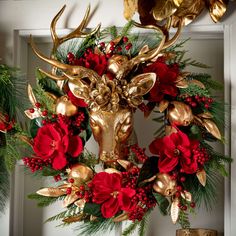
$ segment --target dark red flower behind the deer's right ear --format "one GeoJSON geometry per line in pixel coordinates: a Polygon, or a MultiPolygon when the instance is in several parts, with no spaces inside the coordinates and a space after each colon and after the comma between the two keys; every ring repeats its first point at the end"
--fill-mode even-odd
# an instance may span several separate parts
{"type": "Polygon", "coordinates": [[[171,97],[178,95],[178,88],[175,85],[179,74],[177,64],[167,65],[164,59],[158,59],[153,64],[145,67],[144,72],[154,72],[157,75],[156,83],[149,92],[149,101],[160,102],[165,95],[171,97]]]}

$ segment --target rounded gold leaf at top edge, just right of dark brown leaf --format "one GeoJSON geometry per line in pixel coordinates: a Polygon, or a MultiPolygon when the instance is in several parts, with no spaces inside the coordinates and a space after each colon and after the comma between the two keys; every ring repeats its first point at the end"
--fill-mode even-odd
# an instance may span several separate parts
{"type": "Polygon", "coordinates": [[[153,17],[157,21],[162,21],[173,15],[183,0],[156,0],[156,4],[152,10],[153,17]]]}

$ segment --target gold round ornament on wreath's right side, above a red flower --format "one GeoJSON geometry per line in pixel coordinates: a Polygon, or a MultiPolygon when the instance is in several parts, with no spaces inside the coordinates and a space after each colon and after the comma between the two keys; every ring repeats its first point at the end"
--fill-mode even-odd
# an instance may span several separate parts
{"type": "Polygon", "coordinates": [[[178,101],[171,102],[167,117],[171,124],[177,126],[188,126],[194,118],[191,107],[178,101]]]}

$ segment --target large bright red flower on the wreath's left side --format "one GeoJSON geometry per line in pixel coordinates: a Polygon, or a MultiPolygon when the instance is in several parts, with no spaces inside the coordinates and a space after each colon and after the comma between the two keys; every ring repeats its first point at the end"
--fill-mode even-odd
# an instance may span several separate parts
{"type": "Polygon", "coordinates": [[[59,119],[39,128],[34,138],[34,151],[42,159],[51,159],[52,168],[61,170],[67,165],[66,156],[77,157],[83,150],[79,136],[72,135],[68,126],[59,119]]]}

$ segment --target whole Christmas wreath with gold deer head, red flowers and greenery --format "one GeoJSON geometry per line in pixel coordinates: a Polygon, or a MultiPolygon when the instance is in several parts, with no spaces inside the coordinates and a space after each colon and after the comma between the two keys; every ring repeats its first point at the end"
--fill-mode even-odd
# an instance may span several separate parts
{"type": "Polygon", "coordinates": [[[184,42],[174,44],[181,20],[171,39],[154,25],[144,28],[159,34],[133,34],[132,27],[143,27],[133,21],[122,30],[98,26],[84,33],[88,10],[75,31],[59,38],[55,25],[63,10],[51,24],[50,58],[31,39],[36,55],[53,68],[38,70],[37,86],[28,85],[29,132],[18,128],[14,135],[28,147],[25,166],[56,183],[29,197],[39,206],[61,200],[65,210],[48,221],[82,221],[80,235],[123,220],[132,222],[123,235],[136,227],[142,233],[154,207],[173,223],[189,227],[188,212],[202,202],[211,204],[216,176],[227,175],[224,165],[231,161],[209,144],[223,141],[218,127],[224,104],[211,93],[221,84],[208,74],[185,71],[189,65],[205,65],[184,57],[184,42]],[[59,48],[76,37],[83,40],[59,48]],[[155,112],[154,120],[161,123],[149,146],[152,156],[135,137],[137,109],[146,117],[155,112]],[[85,148],[92,134],[98,157],[85,148]]]}

